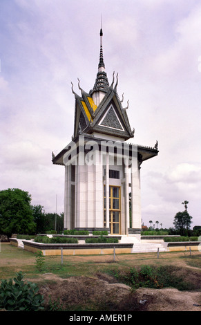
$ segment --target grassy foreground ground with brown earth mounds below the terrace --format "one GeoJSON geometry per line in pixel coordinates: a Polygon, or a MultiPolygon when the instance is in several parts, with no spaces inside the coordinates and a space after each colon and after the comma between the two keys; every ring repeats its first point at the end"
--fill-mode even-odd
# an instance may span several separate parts
{"type": "Polygon", "coordinates": [[[193,306],[195,302],[201,306],[200,252],[191,255],[189,252],[161,252],[159,258],[157,252],[117,254],[115,262],[113,254],[64,256],[63,263],[61,257],[46,256],[43,259],[44,268],[39,271],[37,254],[10,243],[1,243],[0,282],[21,271],[25,279],[38,284],[46,301],[46,310],[52,310],[52,307],[71,311],[201,308],[193,306]],[[164,287],[171,288],[171,292],[161,291],[164,287]],[[142,288],[153,288],[149,290],[154,291],[142,293],[142,288]],[[181,290],[179,297],[174,288],[181,290]],[[188,291],[188,299],[193,295],[187,305],[184,290],[188,291]],[[139,304],[140,297],[146,299],[146,306],[139,304]]]}

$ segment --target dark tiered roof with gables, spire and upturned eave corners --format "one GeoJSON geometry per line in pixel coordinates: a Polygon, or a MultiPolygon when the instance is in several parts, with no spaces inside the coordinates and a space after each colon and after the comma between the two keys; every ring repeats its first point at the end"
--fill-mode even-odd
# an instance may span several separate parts
{"type": "MultiPolygon", "coordinates": [[[[87,93],[81,88],[78,80],[80,95],[77,95],[72,84],[72,91],[75,95],[75,120],[72,140],[75,143],[78,143],[79,135],[84,135],[86,141],[95,135],[97,142],[101,142],[103,138],[106,139],[105,135],[108,136],[108,140],[111,139],[111,136],[113,139],[117,138],[117,140],[121,138],[122,141],[134,138],[135,129],[131,130],[126,112],[128,106],[122,106],[122,100],[119,100],[117,93],[118,74],[116,81],[115,73],[113,73],[113,82],[111,85],[108,82],[104,64],[102,36],[101,28],[98,72],[93,89],[87,93]]],[[[129,148],[132,150],[132,144],[129,145],[129,148]]],[[[52,163],[64,165],[63,157],[66,151],[68,149],[64,148],[57,156],[52,154],[52,163]]],[[[140,163],[157,156],[157,153],[157,142],[154,147],[137,145],[137,156],[140,163]]]]}

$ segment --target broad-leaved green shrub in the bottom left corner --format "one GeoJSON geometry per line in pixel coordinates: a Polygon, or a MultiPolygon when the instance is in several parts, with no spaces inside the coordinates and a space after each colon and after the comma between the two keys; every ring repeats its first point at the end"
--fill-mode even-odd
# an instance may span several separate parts
{"type": "Polygon", "coordinates": [[[6,310],[39,311],[44,309],[44,297],[38,293],[36,284],[23,281],[21,272],[12,280],[2,280],[0,286],[0,308],[6,310]]]}

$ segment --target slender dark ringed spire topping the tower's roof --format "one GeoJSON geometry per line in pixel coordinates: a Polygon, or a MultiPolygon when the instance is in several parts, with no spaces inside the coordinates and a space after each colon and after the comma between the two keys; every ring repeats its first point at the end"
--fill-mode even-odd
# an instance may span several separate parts
{"type": "Polygon", "coordinates": [[[104,55],[103,55],[103,46],[102,46],[102,37],[103,37],[102,22],[101,22],[99,36],[100,36],[99,64],[98,64],[98,73],[95,80],[95,85],[93,87],[93,91],[106,92],[108,91],[109,83],[108,83],[107,74],[105,72],[105,64],[104,64],[104,55]]]}

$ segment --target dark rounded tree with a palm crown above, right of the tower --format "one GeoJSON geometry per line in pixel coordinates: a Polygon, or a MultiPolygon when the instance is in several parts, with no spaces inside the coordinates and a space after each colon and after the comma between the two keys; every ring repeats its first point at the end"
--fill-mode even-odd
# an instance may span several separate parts
{"type": "Polygon", "coordinates": [[[187,211],[187,204],[188,201],[182,202],[184,204],[185,210],[184,212],[178,212],[175,215],[173,224],[175,225],[175,229],[179,230],[180,234],[184,235],[188,232],[190,225],[191,225],[191,219],[192,216],[189,215],[189,212],[187,211]]]}

